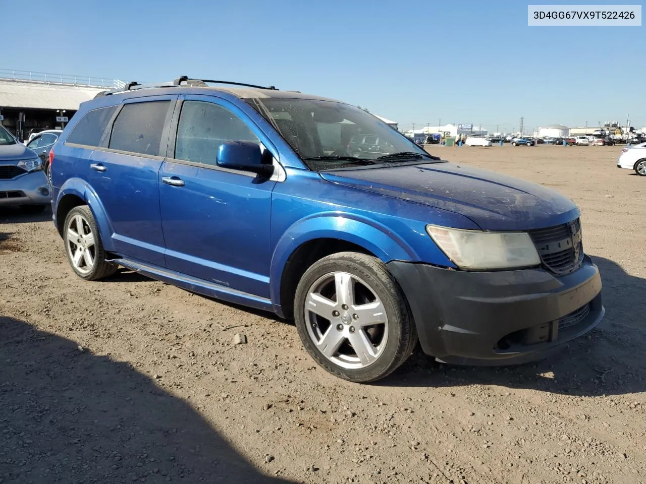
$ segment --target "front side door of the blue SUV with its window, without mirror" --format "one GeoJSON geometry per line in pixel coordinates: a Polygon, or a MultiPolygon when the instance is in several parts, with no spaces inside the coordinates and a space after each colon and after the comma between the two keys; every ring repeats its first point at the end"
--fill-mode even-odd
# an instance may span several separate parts
{"type": "Polygon", "coordinates": [[[225,141],[267,146],[266,136],[237,106],[212,96],[186,96],[176,117],[174,154],[169,150],[159,174],[167,267],[269,297],[276,182],[216,165],[225,141]]]}

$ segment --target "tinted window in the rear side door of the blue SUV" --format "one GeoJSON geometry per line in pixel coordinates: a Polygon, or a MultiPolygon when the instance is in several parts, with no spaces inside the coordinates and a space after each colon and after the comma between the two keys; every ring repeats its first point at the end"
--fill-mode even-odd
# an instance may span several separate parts
{"type": "Polygon", "coordinates": [[[112,150],[159,156],[161,132],[171,101],[147,101],[123,105],[114,120],[112,150]]]}

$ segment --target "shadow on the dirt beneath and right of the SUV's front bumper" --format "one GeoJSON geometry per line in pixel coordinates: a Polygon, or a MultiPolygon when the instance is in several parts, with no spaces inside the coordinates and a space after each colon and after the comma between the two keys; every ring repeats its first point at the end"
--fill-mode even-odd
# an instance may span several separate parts
{"type": "Polygon", "coordinates": [[[593,259],[601,272],[606,316],[587,336],[570,341],[551,358],[510,367],[455,367],[418,353],[378,384],[499,385],[573,396],[645,392],[646,279],[630,276],[609,259],[593,259]]]}

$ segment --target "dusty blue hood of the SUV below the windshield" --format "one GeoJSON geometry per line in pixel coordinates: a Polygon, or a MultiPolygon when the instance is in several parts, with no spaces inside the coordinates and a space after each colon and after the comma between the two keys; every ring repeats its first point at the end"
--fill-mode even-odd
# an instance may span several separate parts
{"type": "Polygon", "coordinates": [[[554,190],[455,163],[368,167],[320,175],[333,183],[461,214],[483,230],[531,230],[579,216],[574,202],[554,190]]]}

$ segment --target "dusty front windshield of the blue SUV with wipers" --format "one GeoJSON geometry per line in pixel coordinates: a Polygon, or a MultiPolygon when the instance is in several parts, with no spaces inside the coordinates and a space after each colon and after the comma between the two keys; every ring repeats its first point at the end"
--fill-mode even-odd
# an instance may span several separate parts
{"type": "Polygon", "coordinates": [[[435,159],[391,126],[355,106],[276,97],[250,101],[311,170],[435,159]]]}

